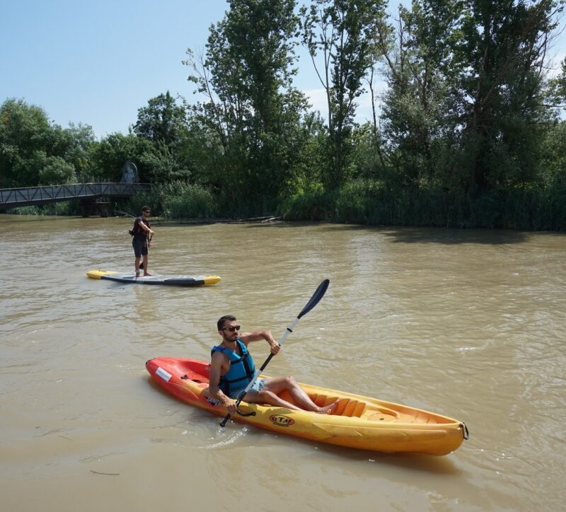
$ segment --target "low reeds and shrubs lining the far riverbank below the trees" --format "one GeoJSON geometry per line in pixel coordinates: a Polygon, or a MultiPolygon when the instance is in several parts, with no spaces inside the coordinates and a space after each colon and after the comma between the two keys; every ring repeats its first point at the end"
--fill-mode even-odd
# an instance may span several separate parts
{"type": "MultiPolygon", "coordinates": [[[[311,221],[352,223],[367,226],[412,226],[444,228],[497,228],[521,231],[565,231],[566,187],[531,188],[507,193],[470,197],[449,190],[383,190],[367,183],[348,185],[332,193],[296,194],[279,202],[272,211],[258,211],[259,199],[238,202],[231,214],[224,214],[214,196],[189,187],[183,194],[171,187],[156,187],[149,194],[137,194],[113,205],[115,216],[135,217],[142,204],[151,204],[160,221],[180,224],[240,223],[265,221],[311,221]]],[[[81,215],[78,201],[25,206],[11,214],[81,215]]]]}

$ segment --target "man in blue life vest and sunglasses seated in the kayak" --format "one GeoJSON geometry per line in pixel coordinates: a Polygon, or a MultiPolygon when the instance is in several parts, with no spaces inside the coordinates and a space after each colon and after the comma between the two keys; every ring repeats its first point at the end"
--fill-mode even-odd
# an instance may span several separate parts
{"type": "MultiPolygon", "coordinates": [[[[236,414],[236,399],[246,389],[255,371],[255,363],[248,351],[248,344],[265,340],[274,355],[279,352],[280,347],[270,331],[257,330],[239,334],[240,325],[232,315],[221,317],[216,327],[222,342],[212,347],[209,393],[223,403],[230,414],[236,414]]],[[[243,400],[319,414],[330,414],[338,405],[336,401],[325,407],[318,407],[291,376],[258,378],[243,400]],[[291,394],[298,405],[277,396],[284,390],[291,394]]]]}

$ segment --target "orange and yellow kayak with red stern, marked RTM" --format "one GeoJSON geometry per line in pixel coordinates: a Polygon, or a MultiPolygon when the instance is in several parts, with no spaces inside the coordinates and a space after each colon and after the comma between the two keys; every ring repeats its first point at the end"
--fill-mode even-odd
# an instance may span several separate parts
{"type": "MultiPolygon", "coordinates": [[[[219,416],[228,413],[207,392],[209,363],[158,357],[147,361],[146,368],[161,388],[179,400],[219,416]]],[[[323,407],[339,400],[338,407],[332,414],[316,414],[241,402],[239,409],[246,416],[236,414],[232,419],[277,434],[380,452],[446,455],[468,438],[462,421],[434,412],[313,385],[301,387],[316,405],[323,407]]],[[[282,398],[293,402],[288,393],[282,398]]]]}

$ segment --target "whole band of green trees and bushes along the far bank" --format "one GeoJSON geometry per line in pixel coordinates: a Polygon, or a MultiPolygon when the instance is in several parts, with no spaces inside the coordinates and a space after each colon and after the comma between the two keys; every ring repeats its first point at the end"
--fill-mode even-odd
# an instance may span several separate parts
{"type": "Polygon", "coordinates": [[[197,100],[150,98],[129,134],[98,141],[4,101],[0,187],[117,181],[134,161],[155,186],[132,213],[563,230],[566,60],[548,74],[562,4],[231,0],[187,50],[197,100]],[[293,84],[301,44],[324,117],[293,84]]]}

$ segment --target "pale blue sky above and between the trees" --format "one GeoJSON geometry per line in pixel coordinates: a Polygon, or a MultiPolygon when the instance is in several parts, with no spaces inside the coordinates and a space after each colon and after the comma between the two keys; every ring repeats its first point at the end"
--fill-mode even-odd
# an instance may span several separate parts
{"type": "MultiPolygon", "coordinates": [[[[0,103],[23,98],[62,127],[90,124],[98,138],[126,134],[150,98],[194,98],[181,61],[187,48],[204,48],[226,8],[224,0],[0,0],[0,103]]],[[[565,48],[562,34],[557,62],[565,48]]],[[[323,110],[302,55],[295,85],[323,110]]],[[[362,98],[358,120],[368,117],[362,98]]]]}

